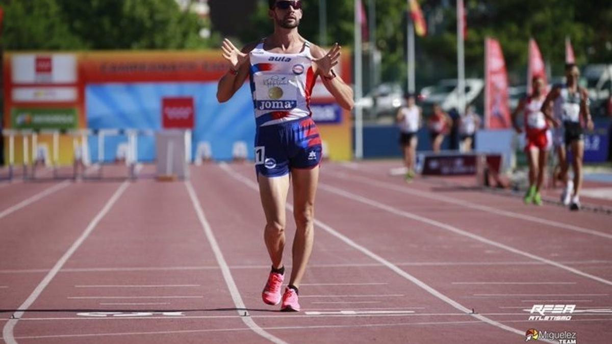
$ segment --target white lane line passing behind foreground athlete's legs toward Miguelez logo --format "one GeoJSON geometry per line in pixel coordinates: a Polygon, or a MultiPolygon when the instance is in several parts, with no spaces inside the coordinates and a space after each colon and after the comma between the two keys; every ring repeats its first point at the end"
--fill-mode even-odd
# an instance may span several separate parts
{"type": "MultiPolygon", "coordinates": [[[[251,181],[248,178],[245,178],[244,176],[242,176],[239,173],[236,173],[236,171],[232,170],[230,168],[230,166],[228,166],[226,163],[221,163],[220,164],[220,168],[222,168],[222,170],[226,171],[231,177],[233,177],[234,179],[236,179],[238,181],[241,181],[242,183],[244,183],[245,185],[247,185],[251,189],[258,190],[258,185],[256,185],[255,182],[251,181]]],[[[319,185],[319,187],[320,187],[320,185],[319,185]]],[[[293,205],[286,204],[286,209],[288,209],[289,211],[293,212],[293,205]]],[[[499,327],[501,329],[504,329],[506,331],[512,332],[514,334],[521,335],[521,337],[524,335],[524,331],[521,331],[519,329],[515,329],[514,327],[510,327],[510,326],[504,325],[502,323],[499,323],[498,321],[495,321],[495,320],[492,320],[490,318],[487,318],[486,316],[483,316],[483,315],[480,315],[480,314],[477,314],[477,313],[473,313],[472,310],[470,310],[469,308],[465,307],[464,305],[461,305],[459,302],[457,302],[457,301],[455,301],[453,299],[450,299],[450,297],[440,293],[438,290],[435,290],[434,288],[431,288],[431,286],[427,285],[422,280],[419,280],[416,277],[414,277],[413,275],[408,274],[408,272],[403,271],[397,265],[390,263],[390,261],[384,259],[383,257],[377,255],[374,252],[371,252],[370,250],[366,249],[364,246],[357,244],[353,240],[349,239],[349,237],[345,236],[344,234],[341,234],[337,230],[334,230],[334,228],[326,225],[325,223],[321,222],[320,220],[315,219],[315,224],[317,226],[319,226],[320,228],[322,228],[327,233],[331,234],[332,236],[337,237],[338,239],[343,241],[345,244],[353,247],[354,249],[358,250],[361,253],[364,253],[364,255],[369,256],[371,259],[373,259],[375,261],[378,261],[379,263],[381,263],[384,266],[386,266],[387,268],[389,268],[391,271],[395,272],[396,274],[400,275],[401,277],[404,277],[405,279],[407,279],[410,282],[414,283],[415,285],[419,286],[423,290],[427,291],[427,293],[430,293],[431,295],[435,296],[436,298],[440,299],[441,301],[446,302],[447,304],[451,305],[453,308],[456,308],[456,309],[460,310],[462,313],[465,313],[466,315],[472,316],[472,317],[474,317],[474,318],[476,318],[476,319],[478,319],[480,321],[483,321],[484,323],[490,324],[492,326],[499,327]]],[[[550,343],[554,343],[554,342],[550,342],[550,343]]]]}

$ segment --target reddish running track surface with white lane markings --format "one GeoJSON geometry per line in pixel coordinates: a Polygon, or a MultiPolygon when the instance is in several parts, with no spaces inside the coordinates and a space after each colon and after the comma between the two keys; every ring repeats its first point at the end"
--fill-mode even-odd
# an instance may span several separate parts
{"type": "Polygon", "coordinates": [[[395,166],[323,166],[303,310],[289,314],[261,302],[269,260],[251,165],[194,167],[190,182],[3,186],[2,339],[518,343],[535,328],[611,341],[610,215],[406,184],[388,176],[395,166]],[[534,304],[576,310],[528,321],[534,304]]]}

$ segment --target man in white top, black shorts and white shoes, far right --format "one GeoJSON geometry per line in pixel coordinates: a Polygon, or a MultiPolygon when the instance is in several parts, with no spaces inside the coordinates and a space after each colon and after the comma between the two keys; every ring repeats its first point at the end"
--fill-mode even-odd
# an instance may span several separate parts
{"type": "Polygon", "coordinates": [[[563,137],[559,137],[560,132],[557,130],[559,164],[561,165],[561,178],[565,184],[564,192],[561,195],[561,201],[566,206],[570,206],[570,210],[580,210],[580,187],[582,185],[582,159],[584,154],[584,133],[580,121],[582,117],[584,124],[588,130],[593,130],[593,121],[591,112],[589,111],[589,94],[586,89],[578,86],[578,77],[580,70],[577,65],[565,65],[566,83],[561,86],[556,86],[546,97],[542,105],[542,112],[550,116],[551,108],[554,111],[555,124],[558,126],[562,122],[563,137]],[[553,105],[551,107],[550,105],[553,105]],[[572,165],[573,165],[573,192],[572,184],[567,178],[568,162],[566,155],[566,147],[572,150],[572,165]],[[570,198],[571,195],[571,198],[570,198]]]}

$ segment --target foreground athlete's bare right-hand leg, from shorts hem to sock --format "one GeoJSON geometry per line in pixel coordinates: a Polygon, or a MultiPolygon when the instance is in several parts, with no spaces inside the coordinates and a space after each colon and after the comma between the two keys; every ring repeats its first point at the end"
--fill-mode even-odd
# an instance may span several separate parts
{"type": "Polygon", "coordinates": [[[289,284],[299,288],[315,237],[315,195],[319,180],[319,166],[310,170],[294,169],[291,171],[291,176],[296,236],[293,239],[293,269],[291,269],[289,284]]]}

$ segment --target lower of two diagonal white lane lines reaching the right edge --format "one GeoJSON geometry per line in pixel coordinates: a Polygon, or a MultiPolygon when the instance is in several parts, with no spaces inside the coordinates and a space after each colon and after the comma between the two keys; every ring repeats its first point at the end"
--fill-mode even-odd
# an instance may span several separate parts
{"type": "Polygon", "coordinates": [[[541,261],[542,263],[547,263],[547,264],[549,264],[551,266],[558,267],[559,269],[563,269],[565,271],[572,272],[572,274],[580,275],[580,276],[583,276],[583,277],[587,277],[588,279],[595,280],[595,281],[603,283],[605,285],[612,285],[612,281],[603,279],[602,277],[597,277],[595,275],[588,274],[586,272],[583,272],[583,271],[580,271],[580,270],[575,269],[573,267],[570,267],[570,266],[558,263],[556,261],[548,260],[546,258],[542,258],[540,256],[533,255],[533,254],[531,254],[529,252],[524,252],[524,251],[515,249],[514,247],[510,247],[508,245],[501,244],[500,242],[493,241],[491,239],[487,239],[485,237],[479,236],[479,235],[474,234],[474,233],[470,233],[468,231],[460,230],[459,228],[457,228],[455,226],[447,225],[446,223],[442,223],[442,222],[439,222],[439,221],[436,221],[436,220],[432,220],[432,219],[429,219],[427,217],[423,217],[423,216],[420,216],[420,215],[412,214],[411,212],[401,211],[401,210],[399,210],[397,208],[393,208],[392,206],[388,206],[387,204],[383,204],[383,203],[380,203],[380,202],[377,202],[377,201],[374,201],[374,200],[370,200],[370,198],[366,198],[364,196],[359,196],[359,195],[357,195],[355,193],[351,193],[351,192],[347,192],[345,190],[338,189],[337,187],[332,187],[332,186],[326,185],[326,184],[319,184],[319,189],[326,190],[327,192],[330,192],[330,193],[335,193],[336,195],[343,196],[345,198],[348,198],[349,200],[359,201],[360,203],[367,204],[367,205],[372,206],[374,208],[382,209],[384,211],[390,212],[391,214],[399,215],[401,217],[406,217],[408,219],[416,220],[416,221],[419,221],[419,222],[422,222],[422,223],[427,223],[428,225],[436,226],[436,227],[441,228],[443,230],[447,230],[447,231],[450,231],[452,233],[459,234],[461,236],[469,237],[469,238],[474,239],[476,241],[480,241],[480,242],[482,242],[484,244],[488,244],[488,245],[491,245],[491,246],[494,246],[494,247],[498,247],[499,249],[506,250],[506,251],[512,252],[512,253],[516,253],[517,255],[525,256],[527,258],[531,258],[532,260],[537,260],[537,261],[541,261]]]}

